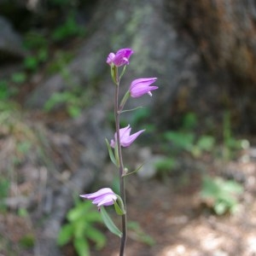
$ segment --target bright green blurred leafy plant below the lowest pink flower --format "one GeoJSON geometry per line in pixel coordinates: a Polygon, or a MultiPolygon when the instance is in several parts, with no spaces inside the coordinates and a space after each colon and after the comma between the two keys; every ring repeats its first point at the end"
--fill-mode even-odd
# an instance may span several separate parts
{"type": "Polygon", "coordinates": [[[67,224],[61,227],[57,243],[64,246],[72,241],[79,256],[90,255],[90,243],[93,241],[97,249],[106,244],[106,237],[96,228],[102,224],[102,218],[90,201],[79,201],[76,206],[67,212],[67,224]]]}

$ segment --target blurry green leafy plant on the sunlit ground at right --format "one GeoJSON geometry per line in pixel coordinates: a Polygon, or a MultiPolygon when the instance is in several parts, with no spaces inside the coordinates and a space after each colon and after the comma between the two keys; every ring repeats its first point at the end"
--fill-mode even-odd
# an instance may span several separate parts
{"type": "Polygon", "coordinates": [[[222,215],[235,213],[239,206],[238,196],[243,192],[241,184],[221,177],[205,177],[201,188],[201,198],[212,204],[214,212],[222,215]]]}

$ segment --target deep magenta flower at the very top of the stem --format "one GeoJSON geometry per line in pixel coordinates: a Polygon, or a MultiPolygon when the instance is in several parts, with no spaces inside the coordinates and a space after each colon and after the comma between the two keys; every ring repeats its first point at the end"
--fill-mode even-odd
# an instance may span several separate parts
{"type": "Polygon", "coordinates": [[[129,64],[129,59],[133,54],[133,50],[130,48],[119,49],[116,54],[110,53],[107,58],[109,65],[113,64],[116,67],[121,67],[129,64]]]}

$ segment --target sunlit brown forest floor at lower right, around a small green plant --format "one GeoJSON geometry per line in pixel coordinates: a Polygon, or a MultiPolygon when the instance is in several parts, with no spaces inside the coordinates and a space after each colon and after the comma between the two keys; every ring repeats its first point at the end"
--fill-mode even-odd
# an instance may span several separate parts
{"type": "MultiPolygon", "coordinates": [[[[204,165],[206,172],[216,171],[214,162],[204,165]]],[[[256,255],[255,161],[231,165],[244,173],[247,184],[234,215],[218,216],[201,200],[199,172],[167,177],[164,181],[129,178],[128,219],[137,222],[142,230],[128,232],[126,255],[256,255]],[[143,242],[148,241],[145,234],[154,244],[143,242]]],[[[119,255],[119,239],[112,234],[107,236],[107,246],[92,255],[119,255]]]]}

